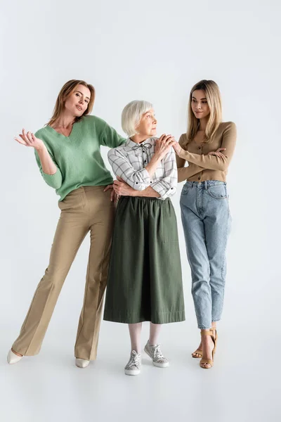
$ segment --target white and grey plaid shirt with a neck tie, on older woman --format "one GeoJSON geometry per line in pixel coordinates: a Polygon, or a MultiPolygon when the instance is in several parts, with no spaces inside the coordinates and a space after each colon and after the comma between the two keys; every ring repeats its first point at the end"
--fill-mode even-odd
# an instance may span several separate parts
{"type": "Polygon", "coordinates": [[[176,155],[174,148],[171,147],[150,177],[145,167],[154,155],[156,140],[157,138],[153,137],[142,143],[136,143],[127,139],[122,146],[112,148],[108,152],[108,160],[115,176],[121,177],[138,191],[151,186],[159,193],[159,199],[164,200],[176,193],[178,184],[176,155]]]}

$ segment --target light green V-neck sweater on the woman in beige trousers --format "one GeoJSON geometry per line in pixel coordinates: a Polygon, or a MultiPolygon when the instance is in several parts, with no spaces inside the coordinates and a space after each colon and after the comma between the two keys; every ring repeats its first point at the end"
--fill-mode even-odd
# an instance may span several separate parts
{"type": "Polygon", "coordinates": [[[35,151],[46,184],[55,188],[60,200],[80,186],[112,184],[112,176],[100,155],[100,145],[115,148],[126,141],[104,120],[89,115],[73,124],[70,136],[58,134],[51,126],[39,129],[35,136],[44,142],[57,167],[55,174],[44,173],[35,151]]]}

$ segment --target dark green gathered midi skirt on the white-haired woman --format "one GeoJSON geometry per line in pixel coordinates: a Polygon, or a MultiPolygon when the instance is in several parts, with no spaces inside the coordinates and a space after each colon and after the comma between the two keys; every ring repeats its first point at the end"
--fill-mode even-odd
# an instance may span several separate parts
{"type": "Polygon", "coordinates": [[[126,324],[185,320],[178,229],[169,198],[119,199],[104,319],[126,324]]]}

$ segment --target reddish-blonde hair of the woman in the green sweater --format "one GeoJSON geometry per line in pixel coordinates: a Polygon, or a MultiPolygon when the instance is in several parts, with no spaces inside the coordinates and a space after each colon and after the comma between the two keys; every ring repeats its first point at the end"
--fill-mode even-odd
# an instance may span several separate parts
{"type": "Polygon", "coordinates": [[[47,123],[48,126],[51,126],[53,123],[55,123],[56,120],[58,120],[58,118],[60,117],[65,107],[66,99],[72,94],[72,92],[77,88],[78,85],[84,85],[84,87],[88,88],[91,92],[91,98],[88,103],[88,107],[86,108],[86,110],[81,116],[75,118],[75,122],[80,120],[81,117],[83,117],[84,115],[91,113],[91,110],[93,110],[93,103],[95,101],[95,95],[96,95],[96,91],[93,85],[87,84],[85,81],[71,79],[70,81],[66,82],[66,84],[63,85],[62,89],[60,89],[58,98],[55,101],[55,108],[53,109],[53,115],[51,117],[51,120],[47,123]]]}

